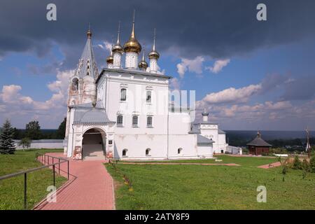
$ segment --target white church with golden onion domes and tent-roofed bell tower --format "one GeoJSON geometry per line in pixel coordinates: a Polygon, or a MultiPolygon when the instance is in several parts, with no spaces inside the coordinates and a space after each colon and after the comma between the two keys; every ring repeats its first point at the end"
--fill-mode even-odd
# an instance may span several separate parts
{"type": "Polygon", "coordinates": [[[64,139],[68,158],[197,159],[225,153],[225,132],[218,123],[209,122],[207,111],[202,113],[202,122],[194,123],[195,110],[171,103],[172,77],[158,69],[155,38],[148,64],[134,22],[123,46],[118,29],[117,43],[106,58],[107,68],[100,73],[91,38],[89,30],[76,73],[69,79],[64,139]]]}

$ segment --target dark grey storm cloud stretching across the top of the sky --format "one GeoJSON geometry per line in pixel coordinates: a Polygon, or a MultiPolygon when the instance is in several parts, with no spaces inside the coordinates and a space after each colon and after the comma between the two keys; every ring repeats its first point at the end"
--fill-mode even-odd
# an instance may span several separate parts
{"type": "Polygon", "coordinates": [[[231,57],[314,35],[313,0],[6,0],[0,3],[0,56],[26,50],[43,56],[55,42],[66,57],[64,66],[75,66],[89,22],[95,43],[115,40],[121,20],[123,42],[134,8],[139,41],[151,47],[156,27],[158,50],[172,48],[180,57],[231,57]],[[57,22],[45,19],[48,3],[57,5],[57,22]],[[267,22],[256,20],[258,3],[267,5],[267,22]]]}

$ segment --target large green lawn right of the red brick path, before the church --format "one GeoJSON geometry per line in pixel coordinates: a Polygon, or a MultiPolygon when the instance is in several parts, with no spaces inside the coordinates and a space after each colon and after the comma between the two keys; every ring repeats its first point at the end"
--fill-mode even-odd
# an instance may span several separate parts
{"type": "Polygon", "coordinates": [[[228,155],[218,158],[241,166],[123,165],[118,162],[115,170],[106,165],[116,182],[116,208],[315,209],[315,174],[303,179],[302,171],[290,169],[283,181],[281,167],[257,168],[276,162],[276,158],[228,155]],[[123,174],[130,179],[132,190],[124,183],[123,174]],[[256,200],[258,186],[267,188],[266,203],[256,200]]]}

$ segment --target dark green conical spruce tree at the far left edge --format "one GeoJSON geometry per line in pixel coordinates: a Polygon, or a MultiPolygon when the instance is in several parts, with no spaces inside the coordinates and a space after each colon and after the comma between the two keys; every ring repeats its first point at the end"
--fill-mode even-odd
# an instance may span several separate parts
{"type": "Polygon", "coordinates": [[[14,130],[9,120],[3,123],[0,129],[0,153],[14,154],[15,144],[13,141],[14,130]]]}

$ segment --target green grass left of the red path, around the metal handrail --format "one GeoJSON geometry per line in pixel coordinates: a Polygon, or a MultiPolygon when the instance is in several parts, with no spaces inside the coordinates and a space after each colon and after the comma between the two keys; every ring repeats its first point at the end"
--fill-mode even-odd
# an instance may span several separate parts
{"type": "MultiPolygon", "coordinates": [[[[62,150],[28,150],[15,151],[14,155],[0,155],[0,176],[20,172],[25,169],[40,167],[35,160],[36,153],[61,152],[62,150]]],[[[56,186],[59,187],[66,179],[56,175],[56,186]]],[[[34,205],[48,194],[48,186],[53,185],[52,170],[41,169],[27,174],[27,207],[34,205]]],[[[0,181],[0,209],[24,209],[24,175],[0,181]]]]}

